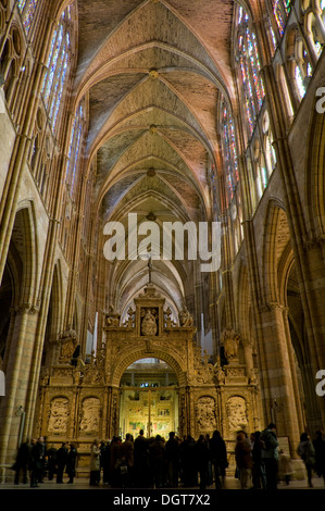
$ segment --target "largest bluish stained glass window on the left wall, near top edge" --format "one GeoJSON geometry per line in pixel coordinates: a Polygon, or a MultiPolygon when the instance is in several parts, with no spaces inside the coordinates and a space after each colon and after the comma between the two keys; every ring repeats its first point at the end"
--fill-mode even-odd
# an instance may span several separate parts
{"type": "Polygon", "coordinates": [[[71,5],[68,5],[62,13],[59,25],[54,30],[47,62],[47,73],[42,86],[45,105],[53,132],[55,130],[60,104],[62,103],[71,70],[71,5]]]}

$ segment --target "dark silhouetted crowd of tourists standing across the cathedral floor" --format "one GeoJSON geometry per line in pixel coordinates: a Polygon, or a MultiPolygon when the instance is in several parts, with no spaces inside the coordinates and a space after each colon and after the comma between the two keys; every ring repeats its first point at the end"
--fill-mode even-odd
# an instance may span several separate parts
{"type": "MultiPolygon", "coordinates": [[[[297,449],[303,460],[309,486],[312,486],[312,472],[324,478],[325,484],[325,439],[322,432],[313,441],[304,433],[297,449]]],[[[57,449],[48,447],[41,437],[24,443],[18,449],[15,470],[15,484],[21,476],[30,486],[57,479],[63,483],[64,474],[68,484],[76,476],[78,452],[73,443],[64,443],[57,449]]],[[[279,465],[287,484],[293,473],[289,456],[278,446],[275,424],[263,432],[250,436],[237,433],[235,447],[236,473],[242,489],[276,489],[279,465]]],[[[134,439],[127,434],[124,441],[114,437],[110,441],[93,440],[90,451],[90,486],[107,485],[112,488],[186,488],[199,486],[223,488],[228,468],[226,444],[220,432],[200,435],[198,440],[187,435],[182,440],[174,432],[165,440],[157,435],[146,438],[143,431],[134,439]]]]}

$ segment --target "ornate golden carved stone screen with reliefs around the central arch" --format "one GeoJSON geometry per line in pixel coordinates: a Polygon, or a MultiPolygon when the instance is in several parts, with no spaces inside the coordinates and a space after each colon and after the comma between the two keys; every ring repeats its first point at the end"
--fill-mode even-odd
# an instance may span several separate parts
{"type": "MultiPolygon", "coordinates": [[[[232,462],[236,432],[260,427],[259,386],[250,345],[225,329],[222,345],[227,364],[221,365],[220,358],[212,362],[211,357],[202,356],[195,333],[188,311],[180,312],[177,323],[173,321],[164,298],[149,284],[123,324],[113,308],[105,314],[103,342],[90,363],[78,357],[72,365],[61,357],[58,364],[43,370],[36,435],[47,436],[54,445],[76,441],[79,466],[86,466],[95,438],[107,440],[121,434],[124,372],[137,360],[155,358],[166,362],[177,377],[177,434],[198,438],[218,429],[232,462]],[[239,363],[239,345],[243,363],[239,363]]],[[[128,433],[136,435],[138,431],[128,433]]]]}

